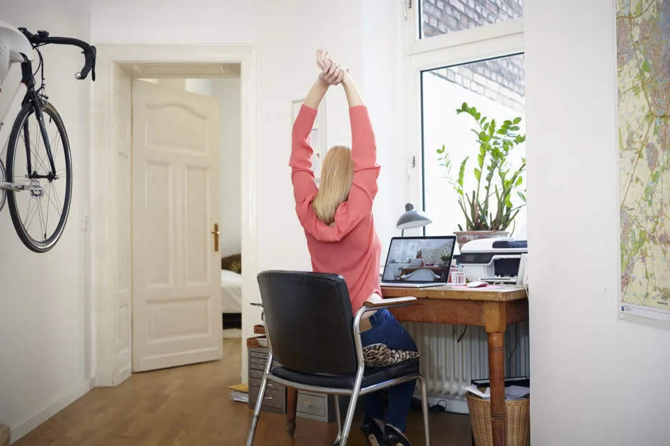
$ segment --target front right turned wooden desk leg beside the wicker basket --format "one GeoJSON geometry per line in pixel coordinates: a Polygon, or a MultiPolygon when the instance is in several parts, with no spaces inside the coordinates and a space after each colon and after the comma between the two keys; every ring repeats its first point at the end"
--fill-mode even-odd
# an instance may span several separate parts
{"type": "Polygon", "coordinates": [[[489,333],[493,446],[505,445],[505,333],[489,333]]]}

